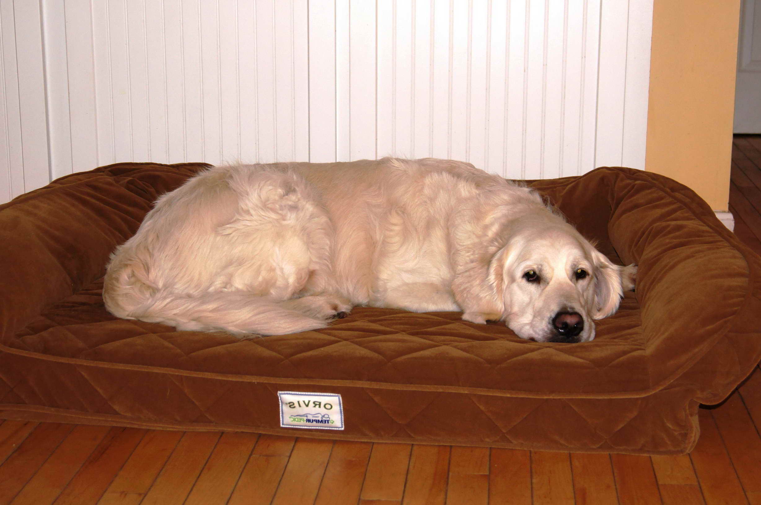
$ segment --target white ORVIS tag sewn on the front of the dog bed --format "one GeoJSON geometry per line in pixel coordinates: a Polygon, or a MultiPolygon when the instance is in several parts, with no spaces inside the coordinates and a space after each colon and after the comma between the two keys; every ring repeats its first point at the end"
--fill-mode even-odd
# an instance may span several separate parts
{"type": "Polygon", "coordinates": [[[279,391],[280,426],[343,429],[341,395],[329,392],[279,391]]]}

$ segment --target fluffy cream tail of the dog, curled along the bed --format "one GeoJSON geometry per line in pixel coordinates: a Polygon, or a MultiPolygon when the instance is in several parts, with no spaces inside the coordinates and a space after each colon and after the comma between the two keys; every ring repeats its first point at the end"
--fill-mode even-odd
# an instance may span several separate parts
{"type": "Polygon", "coordinates": [[[114,316],[175,326],[196,332],[224,331],[239,336],[285,335],[325,328],[325,319],[291,310],[287,302],[240,291],[188,296],[146,284],[135,265],[110,270],[103,301],[114,316]]]}

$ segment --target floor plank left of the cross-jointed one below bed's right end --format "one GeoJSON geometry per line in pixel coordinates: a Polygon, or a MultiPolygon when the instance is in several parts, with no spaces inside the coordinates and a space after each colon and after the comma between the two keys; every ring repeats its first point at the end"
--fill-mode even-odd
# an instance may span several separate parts
{"type": "Polygon", "coordinates": [[[611,454],[619,503],[661,503],[658,482],[649,456],[611,454]]]}

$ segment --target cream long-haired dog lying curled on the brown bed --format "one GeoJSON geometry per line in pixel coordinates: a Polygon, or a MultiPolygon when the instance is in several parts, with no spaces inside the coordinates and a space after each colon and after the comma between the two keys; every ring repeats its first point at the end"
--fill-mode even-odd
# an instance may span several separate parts
{"type": "Polygon", "coordinates": [[[113,253],[103,299],[115,316],[235,335],[323,328],[365,305],[589,341],[635,268],[470,164],[235,165],[158,199],[113,253]]]}

